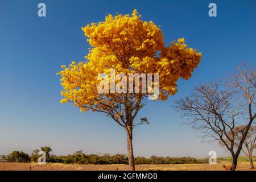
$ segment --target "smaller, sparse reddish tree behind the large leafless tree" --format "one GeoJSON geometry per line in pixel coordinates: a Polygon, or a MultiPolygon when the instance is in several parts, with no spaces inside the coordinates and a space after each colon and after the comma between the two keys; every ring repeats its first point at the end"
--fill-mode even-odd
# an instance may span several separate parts
{"type": "MultiPolygon", "coordinates": [[[[244,125],[240,125],[233,129],[234,146],[236,146],[236,147],[239,146],[244,128],[245,128],[244,125]]],[[[229,131],[228,135],[229,135],[229,137],[232,137],[232,131],[229,131]]],[[[253,150],[256,148],[255,140],[256,140],[256,126],[251,126],[247,133],[245,141],[243,142],[243,148],[242,148],[243,153],[245,153],[245,155],[248,156],[248,158],[249,158],[251,169],[254,169],[253,150]]],[[[225,141],[226,141],[226,143],[229,143],[229,145],[230,145],[230,141],[227,138],[225,139],[225,141]]],[[[220,141],[219,144],[220,144],[220,146],[225,146],[225,144],[222,141],[220,141]]]]}

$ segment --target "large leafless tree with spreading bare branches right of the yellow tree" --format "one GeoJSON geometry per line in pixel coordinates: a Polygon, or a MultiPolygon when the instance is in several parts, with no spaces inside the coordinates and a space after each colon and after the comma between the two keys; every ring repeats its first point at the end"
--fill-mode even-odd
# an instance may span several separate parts
{"type": "Polygon", "coordinates": [[[242,64],[227,82],[196,87],[191,96],[175,102],[176,110],[189,119],[187,123],[193,129],[202,133],[201,137],[221,141],[230,151],[233,159],[230,171],[236,170],[243,142],[256,117],[255,80],[255,68],[242,64]],[[241,138],[235,145],[234,129],[242,124],[241,138]]]}

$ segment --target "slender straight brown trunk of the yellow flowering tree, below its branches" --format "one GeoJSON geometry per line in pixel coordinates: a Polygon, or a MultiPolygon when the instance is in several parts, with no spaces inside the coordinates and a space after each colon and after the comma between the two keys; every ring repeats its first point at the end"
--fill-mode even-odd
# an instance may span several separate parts
{"type": "Polygon", "coordinates": [[[128,126],[127,129],[127,155],[129,160],[129,170],[135,171],[135,163],[133,156],[133,127],[128,126]]]}

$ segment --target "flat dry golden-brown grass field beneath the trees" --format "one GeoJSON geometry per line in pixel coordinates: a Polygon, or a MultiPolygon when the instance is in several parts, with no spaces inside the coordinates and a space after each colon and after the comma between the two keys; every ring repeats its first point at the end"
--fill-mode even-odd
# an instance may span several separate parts
{"type": "MultiPolygon", "coordinates": [[[[209,164],[141,164],[137,165],[137,170],[167,170],[167,171],[224,171],[222,165],[230,166],[228,161],[218,162],[216,165],[209,164]]],[[[256,163],[254,163],[256,166],[256,163]]],[[[39,165],[37,163],[0,163],[0,170],[16,170],[16,171],[104,171],[104,170],[127,170],[128,166],[124,164],[112,165],[84,165],[84,164],[62,164],[62,163],[47,163],[46,165],[39,165]]],[[[248,162],[239,162],[237,170],[245,171],[250,169],[248,162]]],[[[254,169],[256,171],[256,169],[254,169]]]]}

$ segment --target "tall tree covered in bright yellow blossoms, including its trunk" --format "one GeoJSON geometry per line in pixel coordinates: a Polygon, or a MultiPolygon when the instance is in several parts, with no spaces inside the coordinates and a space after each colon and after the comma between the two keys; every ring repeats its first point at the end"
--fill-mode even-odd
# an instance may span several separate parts
{"type": "MultiPolygon", "coordinates": [[[[111,117],[127,132],[129,169],[135,170],[133,156],[133,129],[135,125],[148,123],[141,118],[135,123],[138,111],[144,106],[148,93],[99,93],[99,75],[115,73],[158,73],[158,100],[167,100],[177,92],[177,80],[191,77],[201,60],[201,53],[188,48],[184,39],[165,46],[159,26],[145,22],[137,10],[132,15],[108,15],[105,21],[82,27],[92,48],[86,61],[62,65],[61,85],[64,97],[61,103],[72,102],[81,111],[98,111],[111,117]]],[[[154,83],[154,81],[153,81],[154,83]]],[[[135,87],[135,85],[133,85],[135,87]]],[[[141,86],[141,85],[140,85],[141,86]]],[[[134,88],[135,89],[135,88],[134,88]]]]}

